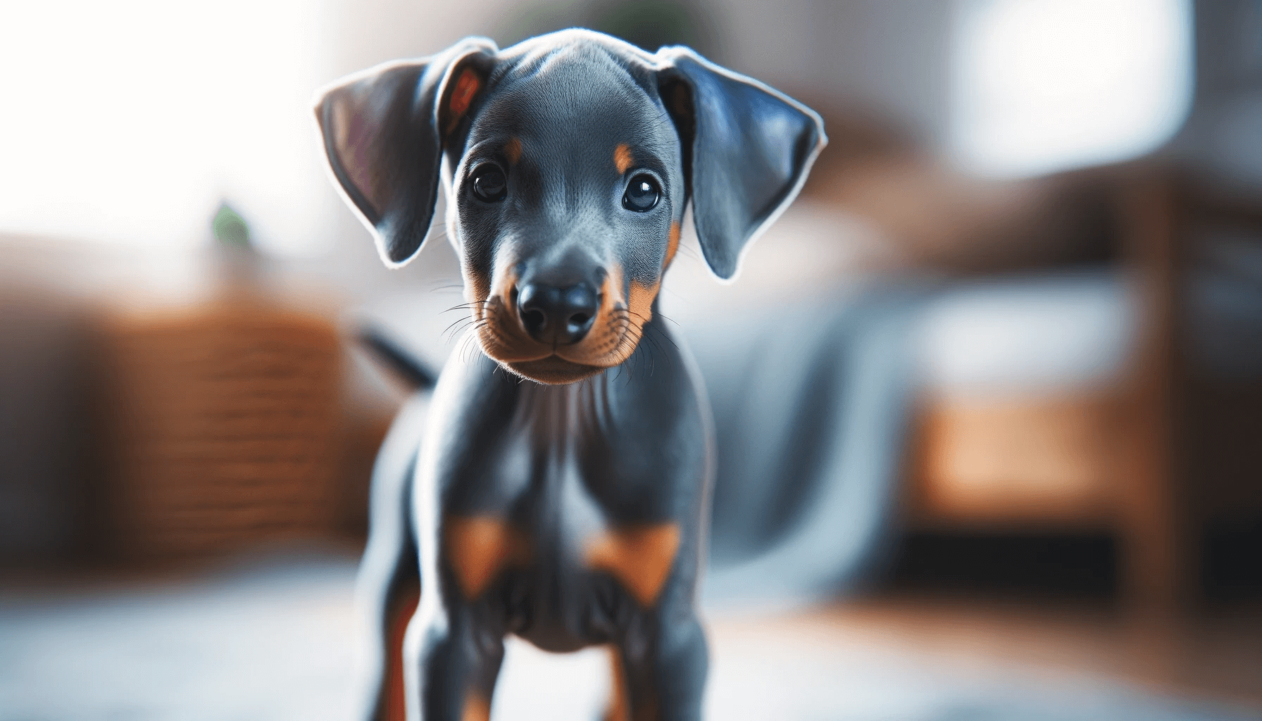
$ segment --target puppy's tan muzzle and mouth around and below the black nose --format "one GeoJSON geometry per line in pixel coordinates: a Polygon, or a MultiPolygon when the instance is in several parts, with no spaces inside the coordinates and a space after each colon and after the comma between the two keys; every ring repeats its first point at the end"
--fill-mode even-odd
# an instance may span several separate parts
{"type": "MultiPolygon", "coordinates": [[[[659,287],[634,280],[623,287],[620,273],[607,274],[592,327],[578,342],[555,345],[526,332],[515,306],[515,279],[496,285],[473,303],[482,351],[511,372],[549,385],[575,383],[630,359],[652,317],[659,287]]],[[[477,294],[477,284],[472,288],[477,294]]]]}

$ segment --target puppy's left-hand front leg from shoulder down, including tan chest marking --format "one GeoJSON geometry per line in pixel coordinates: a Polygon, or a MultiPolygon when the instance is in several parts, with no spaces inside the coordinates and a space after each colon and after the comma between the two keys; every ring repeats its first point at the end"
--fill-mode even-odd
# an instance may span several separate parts
{"type": "Polygon", "coordinates": [[[453,354],[434,389],[411,499],[423,591],[404,650],[409,721],[485,721],[504,659],[493,587],[526,545],[496,466],[519,389],[496,367],[453,354]]]}

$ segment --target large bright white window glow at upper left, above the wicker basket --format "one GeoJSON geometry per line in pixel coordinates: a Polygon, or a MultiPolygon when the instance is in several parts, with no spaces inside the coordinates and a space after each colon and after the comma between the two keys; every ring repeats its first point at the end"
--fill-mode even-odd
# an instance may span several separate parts
{"type": "Polygon", "coordinates": [[[310,110],[321,6],[10,4],[0,232],[188,247],[227,200],[264,249],[319,250],[331,207],[310,110]]]}

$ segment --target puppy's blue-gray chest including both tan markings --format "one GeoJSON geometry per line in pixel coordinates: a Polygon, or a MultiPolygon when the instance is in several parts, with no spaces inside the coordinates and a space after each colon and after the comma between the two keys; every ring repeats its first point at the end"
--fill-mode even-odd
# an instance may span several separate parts
{"type": "Polygon", "coordinates": [[[522,399],[534,405],[483,448],[485,472],[461,484],[464,503],[448,506],[453,568],[472,593],[512,568],[564,587],[608,575],[650,606],[679,552],[679,519],[642,460],[623,456],[632,451],[606,408],[544,390],[522,399]]]}

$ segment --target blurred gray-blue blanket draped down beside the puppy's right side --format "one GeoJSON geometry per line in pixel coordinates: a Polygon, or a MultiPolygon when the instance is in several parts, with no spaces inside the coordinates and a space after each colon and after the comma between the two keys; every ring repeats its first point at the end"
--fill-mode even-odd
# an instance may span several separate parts
{"type": "Polygon", "coordinates": [[[902,457],[921,299],[883,289],[684,328],[718,441],[709,602],[809,602],[872,559],[902,457]]]}

